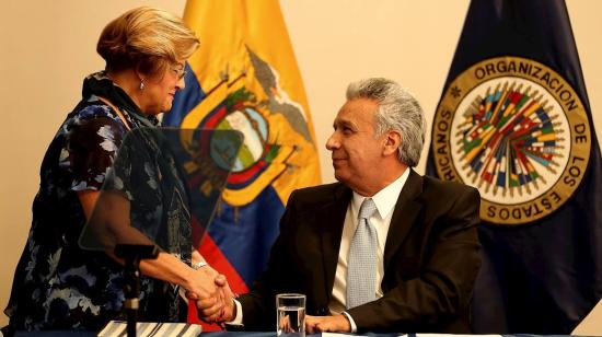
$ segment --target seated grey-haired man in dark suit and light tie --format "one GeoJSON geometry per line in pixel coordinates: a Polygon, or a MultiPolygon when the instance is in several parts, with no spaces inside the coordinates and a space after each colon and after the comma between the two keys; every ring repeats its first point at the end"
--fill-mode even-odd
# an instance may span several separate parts
{"type": "Polygon", "coordinates": [[[351,83],[326,143],[339,183],[292,193],[266,271],[222,319],[271,330],[275,295],[298,292],[308,333],[470,333],[479,195],[410,168],[425,130],[397,83],[351,83]]]}

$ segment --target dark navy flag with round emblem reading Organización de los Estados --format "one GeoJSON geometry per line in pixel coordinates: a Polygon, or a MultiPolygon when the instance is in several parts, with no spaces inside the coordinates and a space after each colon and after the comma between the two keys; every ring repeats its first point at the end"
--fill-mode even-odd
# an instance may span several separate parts
{"type": "Polygon", "coordinates": [[[476,333],[567,334],[602,298],[602,166],[564,0],[473,0],[428,172],[478,188],[476,333]]]}

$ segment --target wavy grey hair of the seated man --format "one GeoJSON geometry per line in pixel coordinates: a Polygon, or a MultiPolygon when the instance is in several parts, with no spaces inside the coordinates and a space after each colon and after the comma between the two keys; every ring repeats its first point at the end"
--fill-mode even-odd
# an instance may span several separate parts
{"type": "Polygon", "coordinates": [[[377,111],[375,137],[386,131],[402,133],[398,158],[402,163],[414,167],[420,160],[427,130],[425,114],[418,101],[400,84],[383,78],[366,79],[349,84],[347,100],[368,98],[379,104],[377,111]]]}

